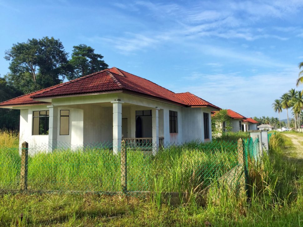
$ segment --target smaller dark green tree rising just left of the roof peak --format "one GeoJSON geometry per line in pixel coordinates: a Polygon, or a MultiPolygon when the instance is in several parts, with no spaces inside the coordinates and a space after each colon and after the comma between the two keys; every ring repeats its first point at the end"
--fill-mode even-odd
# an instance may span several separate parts
{"type": "Polygon", "coordinates": [[[74,68],[74,73],[67,75],[69,80],[92,74],[107,69],[108,65],[102,60],[101,54],[85,44],[73,46],[72,59],[69,63],[74,68]]]}

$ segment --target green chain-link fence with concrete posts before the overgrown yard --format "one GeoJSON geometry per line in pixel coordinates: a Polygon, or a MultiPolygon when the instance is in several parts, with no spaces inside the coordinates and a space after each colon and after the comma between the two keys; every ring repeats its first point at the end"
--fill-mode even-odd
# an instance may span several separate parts
{"type": "MultiPolygon", "coordinates": [[[[241,140],[242,141],[242,140],[241,140]]],[[[212,141],[161,144],[122,142],[71,146],[9,148],[0,146],[0,191],[117,193],[185,192],[205,189],[233,169],[247,154],[259,152],[258,141],[212,141]],[[157,152],[155,152],[157,151],[157,152]]]]}

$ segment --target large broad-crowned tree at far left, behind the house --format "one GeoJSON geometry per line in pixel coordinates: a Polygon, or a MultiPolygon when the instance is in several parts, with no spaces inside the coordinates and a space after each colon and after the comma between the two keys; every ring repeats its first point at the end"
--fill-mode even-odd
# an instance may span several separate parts
{"type": "Polygon", "coordinates": [[[62,42],[54,37],[13,44],[4,57],[10,61],[7,80],[24,93],[62,83],[72,71],[67,55],[62,42]]]}

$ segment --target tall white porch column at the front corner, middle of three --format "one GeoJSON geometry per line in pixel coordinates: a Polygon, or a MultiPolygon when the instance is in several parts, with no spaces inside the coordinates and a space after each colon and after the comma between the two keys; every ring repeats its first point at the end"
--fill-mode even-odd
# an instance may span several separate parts
{"type": "Polygon", "coordinates": [[[121,101],[112,101],[112,147],[113,153],[121,151],[122,141],[122,103],[121,101]]]}

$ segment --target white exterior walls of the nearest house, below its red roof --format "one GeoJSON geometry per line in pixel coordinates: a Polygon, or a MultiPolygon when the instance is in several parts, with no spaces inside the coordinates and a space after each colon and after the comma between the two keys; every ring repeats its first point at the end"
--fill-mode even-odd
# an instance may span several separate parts
{"type": "MultiPolygon", "coordinates": [[[[210,109],[186,108],[136,95],[115,93],[53,99],[52,105],[57,107],[58,111],[58,147],[60,145],[67,147],[70,144],[83,146],[87,143],[112,143],[113,107],[111,102],[115,99],[123,102],[122,118],[127,118],[128,138],[136,136],[136,110],[158,109],[158,136],[164,137],[164,143],[181,144],[192,140],[204,141],[203,112],[209,114],[211,140],[210,109]],[[60,110],[70,110],[69,135],[60,135],[60,110]],[[169,110],[177,112],[178,133],[169,133],[169,110]]],[[[48,110],[48,108],[47,105],[33,105],[27,109],[21,109],[20,145],[24,141],[27,141],[30,147],[48,145],[48,135],[32,135],[32,111],[35,110],[48,110]]],[[[236,122],[236,127],[239,128],[239,123],[236,122]]],[[[152,127],[152,125],[147,127],[152,127]]]]}

